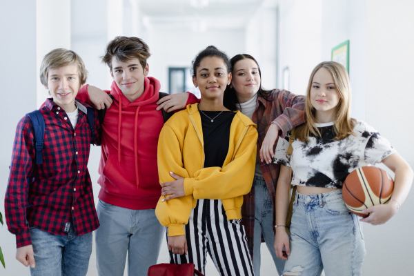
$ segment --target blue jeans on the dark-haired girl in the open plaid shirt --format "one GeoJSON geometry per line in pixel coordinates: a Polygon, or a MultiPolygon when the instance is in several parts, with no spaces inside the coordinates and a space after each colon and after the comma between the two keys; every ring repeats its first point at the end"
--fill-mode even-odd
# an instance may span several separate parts
{"type": "Polygon", "coordinates": [[[262,235],[270,255],[275,262],[277,273],[282,275],[285,261],[276,257],[275,233],[273,232],[273,202],[270,198],[269,190],[263,177],[255,176],[253,182],[255,186],[255,237],[253,244],[253,268],[255,276],[260,275],[260,246],[262,244],[262,235]]]}

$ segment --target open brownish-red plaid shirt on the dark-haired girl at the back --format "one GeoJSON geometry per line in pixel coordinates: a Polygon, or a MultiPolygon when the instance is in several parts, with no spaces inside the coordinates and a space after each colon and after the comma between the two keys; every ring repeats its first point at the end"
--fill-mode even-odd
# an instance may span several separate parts
{"type": "MultiPolygon", "coordinates": [[[[252,121],[257,124],[257,156],[259,156],[260,148],[262,147],[264,137],[270,124],[277,124],[282,130],[282,137],[286,132],[299,126],[305,122],[305,97],[302,95],[295,95],[286,90],[275,89],[269,97],[269,101],[261,97],[257,97],[257,107],[253,112],[252,121]]],[[[275,151],[277,140],[273,146],[275,151]]],[[[279,177],[278,164],[260,164],[264,181],[269,190],[270,197],[273,201],[273,226],[275,226],[275,195],[277,178],[279,177]]],[[[253,237],[255,232],[255,186],[247,195],[244,195],[242,206],[242,224],[246,229],[246,237],[250,256],[253,258],[253,237]]],[[[273,230],[275,230],[273,228],[273,230]]]]}

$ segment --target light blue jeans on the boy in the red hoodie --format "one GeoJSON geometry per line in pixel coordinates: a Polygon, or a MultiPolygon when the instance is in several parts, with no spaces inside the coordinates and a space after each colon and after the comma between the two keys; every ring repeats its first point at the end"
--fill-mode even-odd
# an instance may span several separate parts
{"type": "Polygon", "coordinates": [[[128,275],[146,276],[157,264],[164,227],[155,210],[131,210],[99,200],[99,228],[95,231],[99,276],[123,276],[126,253],[128,275]]]}

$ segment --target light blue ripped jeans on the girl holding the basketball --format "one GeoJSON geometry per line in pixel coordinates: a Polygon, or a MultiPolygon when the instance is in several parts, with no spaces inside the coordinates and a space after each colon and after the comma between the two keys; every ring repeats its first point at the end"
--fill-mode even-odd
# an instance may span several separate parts
{"type": "Polygon", "coordinates": [[[361,275],[365,244],[359,224],[346,208],[342,190],[296,193],[284,275],[320,275],[322,269],[325,275],[361,275]]]}

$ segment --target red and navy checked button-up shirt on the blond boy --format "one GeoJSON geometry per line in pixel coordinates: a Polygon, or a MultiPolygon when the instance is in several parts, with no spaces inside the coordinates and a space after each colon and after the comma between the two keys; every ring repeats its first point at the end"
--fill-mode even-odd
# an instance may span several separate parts
{"type": "Polygon", "coordinates": [[[45,119],[43,164],[36,165],[32,121],[26,115],[17,125],[5,199],[8,230],[16,235],[17,248],[32,244],[29,224],[55,235],[65,235],[68,222],[75,235],[99,226],[87,168],[90,144],[100,141],[99,119],[94,110],[92,137],[86,107],[76,103],[75,130],[52,100],[40,108],[45,119]]]}

